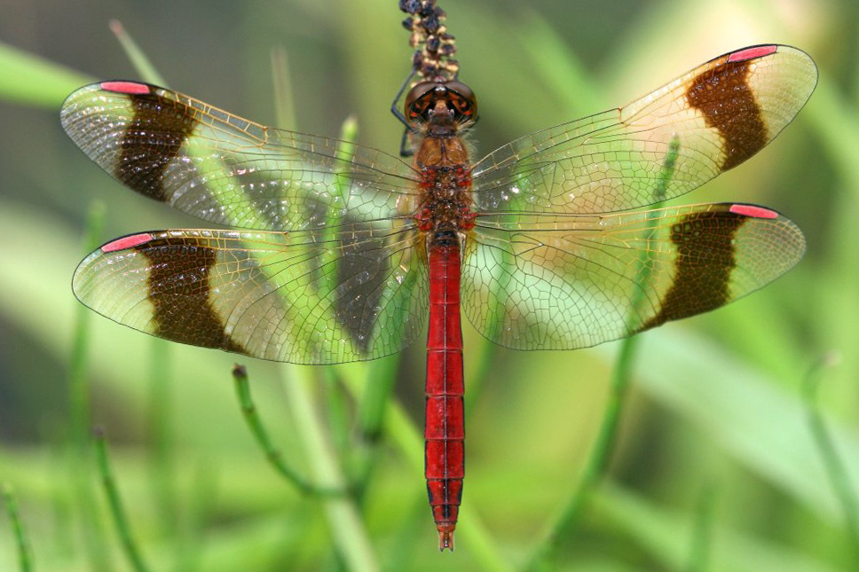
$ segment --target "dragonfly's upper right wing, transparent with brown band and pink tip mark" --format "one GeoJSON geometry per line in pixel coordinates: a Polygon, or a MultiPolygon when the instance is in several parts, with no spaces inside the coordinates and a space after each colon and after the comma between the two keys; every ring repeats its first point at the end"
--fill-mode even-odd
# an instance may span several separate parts
{"type": "Polygon", "coordinates": [[[490,153],[473,168],[475,208],[611,213],[682,195],[760,151],[816,81],[814,61],[789,46],[725,54],[627,106],[490,153]]]}

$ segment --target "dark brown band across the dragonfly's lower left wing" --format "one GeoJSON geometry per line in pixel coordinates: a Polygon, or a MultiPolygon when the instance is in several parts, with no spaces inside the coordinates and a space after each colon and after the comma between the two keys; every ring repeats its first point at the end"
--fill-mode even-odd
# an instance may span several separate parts
{"type": "Polygon", "coordinates": [[[216,250],[191,238],[161,239],[135,248],[151,262],[147,286],[154,334],[170,341],[247,354],[224,331],[212,307],[209,273],[216,250]]]}

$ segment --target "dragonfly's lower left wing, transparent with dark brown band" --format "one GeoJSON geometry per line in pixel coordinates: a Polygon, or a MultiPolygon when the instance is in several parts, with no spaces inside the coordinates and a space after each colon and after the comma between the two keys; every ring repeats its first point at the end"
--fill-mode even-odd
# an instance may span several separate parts
{"type": "Polygon", "coordinates": [[[81,262],[92,310],[171,341],[296,364],[388,356],[421,335],[427,278],[411,226],[151,231],[81,262]]]}

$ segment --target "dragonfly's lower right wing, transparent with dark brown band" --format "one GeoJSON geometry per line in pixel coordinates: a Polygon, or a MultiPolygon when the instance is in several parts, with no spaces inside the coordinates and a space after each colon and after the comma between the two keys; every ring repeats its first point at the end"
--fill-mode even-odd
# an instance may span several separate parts
{"type": "Polygon", "coordinates": [[[719,308],[781,276],[805,239],[766,208],[478,219],[462,273],[477,331],[512,349],[578,349],[719,308]]]}

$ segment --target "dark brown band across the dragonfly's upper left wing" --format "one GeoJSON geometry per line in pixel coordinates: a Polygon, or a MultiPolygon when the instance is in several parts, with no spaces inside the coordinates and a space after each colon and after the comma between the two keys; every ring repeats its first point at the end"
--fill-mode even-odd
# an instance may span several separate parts
{"type": "Polygon", "coordinates": [[[198,121],[189,108],[156,93],[129,94],[134,117],[122,134],[114,176],[135,191],[167,200],[164,176],[198,121]]]}

